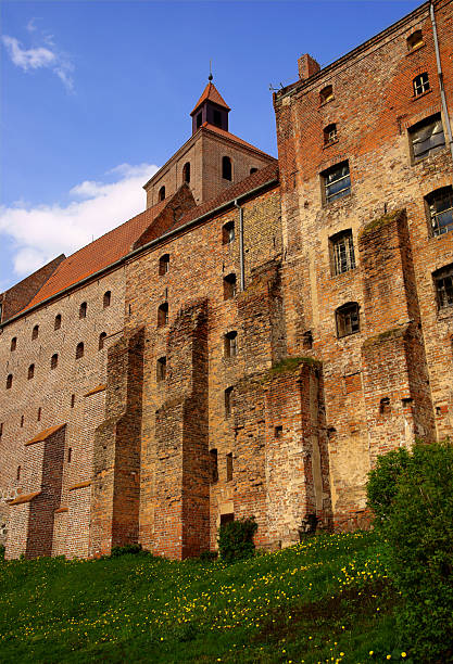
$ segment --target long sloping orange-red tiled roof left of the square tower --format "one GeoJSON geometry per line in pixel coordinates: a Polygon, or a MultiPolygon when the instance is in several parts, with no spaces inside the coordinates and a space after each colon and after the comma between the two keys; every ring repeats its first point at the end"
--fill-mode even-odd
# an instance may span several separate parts
{"type": "Polygon", "coordinates": [[[23,311],[123,258],[166,203],[158,203],[68,256],[23,311]]]}

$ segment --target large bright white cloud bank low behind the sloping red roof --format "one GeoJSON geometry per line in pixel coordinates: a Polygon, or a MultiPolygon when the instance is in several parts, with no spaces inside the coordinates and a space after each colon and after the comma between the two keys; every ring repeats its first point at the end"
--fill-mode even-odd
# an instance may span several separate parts
{"type": "Polygon", "coordinates": [[[151,164],[122,164],[110,171],[118,175],[115,182],[85,180],[73,187],[66,206],[17,202],[0,207],[0,237],[13,241],[15,274],[23,278],[59,254],[68,256],[142,212],[142,186],[156,170],[151,164]]]}

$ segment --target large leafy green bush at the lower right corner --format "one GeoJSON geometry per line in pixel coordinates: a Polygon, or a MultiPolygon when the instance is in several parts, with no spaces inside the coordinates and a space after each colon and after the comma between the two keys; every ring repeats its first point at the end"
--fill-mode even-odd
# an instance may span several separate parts
{"type": "Polygon", "coordinates": [[[453,447],[416,445],[395,473],[386,505],[377,500],[377,487],[392,476],[394,461],[394,455],[388,463],[381,460],[382,476],[374,471],[369,490],[370,507],[382,506],[379,531],[388,540],[390,574],[403,599],[397,624],[415,661],[453,661],[453,447]]]}

